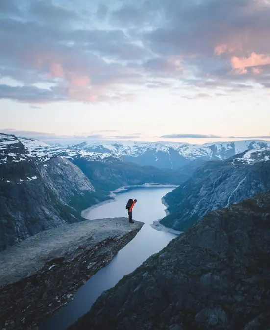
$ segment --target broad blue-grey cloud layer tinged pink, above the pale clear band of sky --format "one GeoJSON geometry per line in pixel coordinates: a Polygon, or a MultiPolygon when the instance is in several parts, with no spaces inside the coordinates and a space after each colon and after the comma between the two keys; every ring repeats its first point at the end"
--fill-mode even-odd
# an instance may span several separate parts
{"type": "Polygon", "coordinates": [[[269,17],[263,0],[1,0],[0,98],[111,103],[179,83],[207,88],[195,98],[267,88],[269,17]]]}

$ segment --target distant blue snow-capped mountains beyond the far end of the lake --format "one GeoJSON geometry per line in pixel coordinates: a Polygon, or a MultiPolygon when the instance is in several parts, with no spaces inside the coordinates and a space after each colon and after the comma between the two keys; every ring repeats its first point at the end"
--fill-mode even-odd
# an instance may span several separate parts
{"type": "Polygon", "coordinates": [[[182,142],[101,141],[66,145],[67,149],[111,155],[138,165],[178,169],[194,160],[224,160],[254,148],[270,146],[270,141],[247,140],[204,145],[182,142]]]}

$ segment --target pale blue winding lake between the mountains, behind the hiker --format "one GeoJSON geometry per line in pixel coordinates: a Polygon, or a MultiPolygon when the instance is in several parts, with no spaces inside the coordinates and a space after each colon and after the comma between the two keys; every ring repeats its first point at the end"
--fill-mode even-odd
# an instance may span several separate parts
{"type": "MultiPolygon", "coordinates": [[[[137,235],[113,258],[110,264],[102,268],[79,288],[74,299],[57,315],[40,325],[40,330],[65,330],[79,317],[90,310],[102,291],[113,287],[124,275],[139,267],[149,256],[159,252],[177,235],[151,228],[151,223],[165,215],[165,206],[161,198],[174,187],[144,187],[129,189],[117,193],[115,201],[86,210],[84,217],[100,219],[107,217],[126,217],[126,200],[137,198],[133,218],[144,222],[137,235]],[[149,205],[151,205],[149,207],[149,205]]],[[[126,220],[127,221],[127,220],[126,220]]]]}

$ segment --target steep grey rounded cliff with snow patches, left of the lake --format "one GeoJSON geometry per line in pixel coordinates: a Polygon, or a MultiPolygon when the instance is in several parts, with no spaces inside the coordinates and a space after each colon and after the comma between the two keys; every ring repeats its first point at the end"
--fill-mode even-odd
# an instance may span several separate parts
{"type": "Polygon", "coordinates": [[[29,150],[14,135],[0,134],[0,250],[81,221],[83,209],[104,199],[68,159],[29,150]]]}

